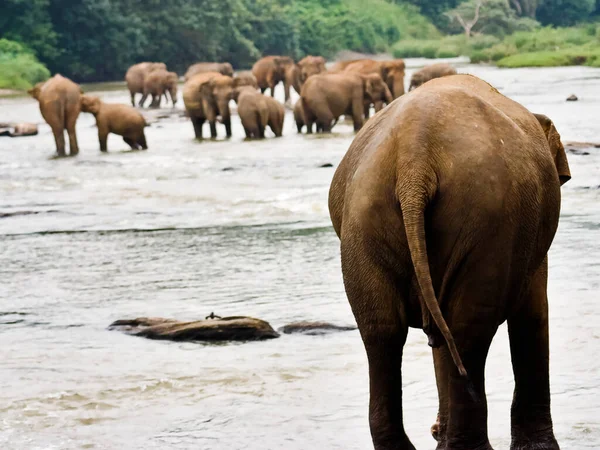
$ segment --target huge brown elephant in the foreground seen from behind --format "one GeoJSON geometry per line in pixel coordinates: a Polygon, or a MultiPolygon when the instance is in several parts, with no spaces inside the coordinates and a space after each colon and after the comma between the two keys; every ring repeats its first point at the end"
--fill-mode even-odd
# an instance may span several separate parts
{"type": "Polygon", "coordinates": [[[360,131],[329,211],[369,362],[375,449],[414,449],[403,426],[409,327],[433,349],[439,450],[490,450],[485,360],[508,321],[512,450],[558,450],[550,415],[548,249],[570,179],[560,136],[470,75],[432,80],[360,131]]]}

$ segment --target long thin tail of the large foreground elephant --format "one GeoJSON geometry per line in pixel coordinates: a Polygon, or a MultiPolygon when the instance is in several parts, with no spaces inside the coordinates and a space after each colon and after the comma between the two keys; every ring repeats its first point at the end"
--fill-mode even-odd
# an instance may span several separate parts
{"type": "MultiPolygon", "coordinates": [[[[418,168],[417,170],[413,169],[412,172],[423,174],[418,168]]],[[[421,180],[414,179],[409,183],[411,188],[408,188],[408,184],[406,183],[406,175],[403,178],[405,178],[405,181],[398,186],[397,194],[402,209],[408,248],[421,290],[421,298],[425,302],[442,336],[444,336],[448,350],[460,375],[467,378],[467,370],[462,363],[458,349],[454,343],[454,337],[450,332],[450,328],[448,328],[448,324],[442,315],[439,302],[435,296],[431,273],[429,271],[429,259],[427,257],[427,244],[425,241],[425,207],[437,190],[437,181],[434,181],[436,177],[435,174],[431,174],[430,177],[425,176],[421,180]],[[426,178],[429,178],[430,181],[425,181],[426,178]],[[433,186],[434,189],[428,191],[427,186],[433,186]],[[415,191],[414,187],[420,189],[420,191],[415,191]]]]}

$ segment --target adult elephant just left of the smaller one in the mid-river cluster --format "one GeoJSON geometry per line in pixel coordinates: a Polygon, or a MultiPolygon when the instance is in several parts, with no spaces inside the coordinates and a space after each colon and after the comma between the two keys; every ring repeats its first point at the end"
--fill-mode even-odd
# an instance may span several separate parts
{"type": "Polygon", "coordinates": [[[231,137],[231,112],[229,101],[233,98],[233,78],[218,72],[199,73],[183,86],[183,103],[194,125],[197,139],[202,139],[202,125],[210,124],[210,136],[217,137],[217,116],[225,125],[227,137],[231,137]]]}

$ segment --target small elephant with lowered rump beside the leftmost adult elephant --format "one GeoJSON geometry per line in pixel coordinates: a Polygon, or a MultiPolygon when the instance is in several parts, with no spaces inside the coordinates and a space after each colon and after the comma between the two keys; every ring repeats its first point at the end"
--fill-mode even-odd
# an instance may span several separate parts
{"type": "Polygon", "coordinates": [[[96,117],[100,151],[106,152],[108,133],[123,136],[123,140],[132,150],[147,150],[144,127],[148,126],[144,116],[129,105],[104,103],[98,97],[81,96],[81,111],[91,113],[96,117]]]}

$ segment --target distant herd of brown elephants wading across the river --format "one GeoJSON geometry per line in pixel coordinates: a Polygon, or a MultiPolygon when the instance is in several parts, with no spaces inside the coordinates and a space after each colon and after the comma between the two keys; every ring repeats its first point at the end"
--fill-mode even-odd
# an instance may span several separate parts
{"type": "MultiPolygon", "coordinates": [[[[378,112],[405,93],[405,64],[401,59],[341,61],[329,69],[325,65],[321,56],[306,56],[298,62],[287,56],[266,56],[252,70],[240,72],[234,72],[229,63],[193,64],[184,76],[183,101],[196,138],[203,138],[205,122],[209,123],[212,139],[217,137],[218,122],[225,126],[226,136],[231,137],[231,100],[237,103],[247,138],[264,138],[267,127],[276,137],[281,136],[285,109],[274,98],[279,83],[284,86],[286,105],[290,103],[292,88],[300,95],[293,108],[299,133],[304,128],[312,133],[314,125],[317,132],[330,132],[342,115],[351,117],[358,131],[369,118],[371,106],[378,112]],[[264,95],[267,89],[271,97],[264,95]]],[[[453,74],[456,70],[450,65],[433,64],[413,75],[410,90],[433,78],[453,74]]],[[[128,69],[125,81],[131,107],[85,95],[76,83],[60,74],[29,91],[39,101],[42,116],[52,129],[58,156],[66,155],[65,130],[70,155],[78,153],[75,123],[80,112],[95,116],[101,151],[107,151],[109,133],[122,136],[132,149],[148,148],[144,134],[147,123],[135,108],[135,96],[142,95],[140,107],[148,97],[150,107],[160,107],[163,97],[175,106],[179,77],[168,71],[164,63],[142,62],[128,69]]]]}

